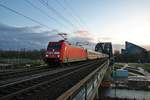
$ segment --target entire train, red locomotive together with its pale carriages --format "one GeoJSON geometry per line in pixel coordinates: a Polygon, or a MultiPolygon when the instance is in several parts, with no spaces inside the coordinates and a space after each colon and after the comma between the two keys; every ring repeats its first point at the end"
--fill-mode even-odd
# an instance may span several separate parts
{"type": "Polygon", "coordinates": [[[87,50],[79,46],[70,45],[68,42],[61,40],[58,42],[49,42],[45,52],[44,61],[51,65],[56,63],[63,64],[107,57],[107,54],[87,50]]]}

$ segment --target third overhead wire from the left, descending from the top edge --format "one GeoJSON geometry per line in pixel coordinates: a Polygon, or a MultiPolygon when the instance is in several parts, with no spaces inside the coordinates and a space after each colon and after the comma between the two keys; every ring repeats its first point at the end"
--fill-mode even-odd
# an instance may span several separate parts
{"type": "Polygon", "coordinates": [[[66,19],[62,14],[60,14],[56,9],[48,5],[48,3],[45,3],[43,0],[38,0],[43,6],[47,7],[49,10],[53,11],[57,16],[59,16],[61,19],[63,19],[64,22],[67,22],[69,25],[71,25],[73,28],[77,28],[72,22],[70,22],[68,19],[66,19]]]}

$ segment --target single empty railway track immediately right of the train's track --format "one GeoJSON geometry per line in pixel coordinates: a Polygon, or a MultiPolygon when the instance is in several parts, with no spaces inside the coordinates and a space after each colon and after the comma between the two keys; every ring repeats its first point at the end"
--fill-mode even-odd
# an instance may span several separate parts
{"type": "Polygon", "coordinates": [[[32,90],[33,88],[40,86],[42,84],[46,84],[49,80],[55,80],[57,77],[61,75],[65,75],[66,73],[72,72],[73,70],[77,70],[82,68],[83,66],[87,66],[90,63],[82,64],[78,67],[67,68],[66,70],[61,70],[60,72],[47,73],[38,77],[33,77],[31,79],[17,81],[15,83],[5,84],[0,86],[0,99],[8,100],[11,97],[14,97],[18,94],[24,93],[26,91],[32,90]]]}

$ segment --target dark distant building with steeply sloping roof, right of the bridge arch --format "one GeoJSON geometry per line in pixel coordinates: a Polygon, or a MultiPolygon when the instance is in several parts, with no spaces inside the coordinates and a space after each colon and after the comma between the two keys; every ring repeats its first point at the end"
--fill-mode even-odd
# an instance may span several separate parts
{"type": "Polygon", "coordinates": [[[125,49],[121,50],[122,54],[141,54],[147,52],[146,49],[130,42],[125,42],[125,49]]]}

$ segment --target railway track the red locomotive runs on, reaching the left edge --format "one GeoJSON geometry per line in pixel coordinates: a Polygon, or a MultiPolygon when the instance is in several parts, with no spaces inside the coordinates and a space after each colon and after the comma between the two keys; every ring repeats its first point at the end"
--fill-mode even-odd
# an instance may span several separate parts
{"type": "MultiPolygon", "coordinates": [[[[81,65],[81,64],[84,64],[86,62],[78,62],[77,64],[72,64],[71,66],[69,67],[73,67],[73,66],[78,66],[78,65],[81,65]]],[[[33,76],[34,74],[40,74],[40,73],[43,73],[43,72],[48,72],[48,71],[53,71],[53,70],[57,70],[57,69],[60,69],[60,68],[65,68],[67,66],[61,66],[61,67],[58,67],[58,66],[53,66],[53,67],[48,67],[48,66],[43,66],[43,68],[36,68],[36,69],[33,69],[30,70],[30,69],[26,69],[24,71],[19,71],[19,72],[13,72],[13,73],[6,73],[5,75],[0,75],[0,86],[1,85],[4,85],[4,84],[7,84],[7,83],[10,83],[10,82],[13,82],[14,80],[19,80],[23,77],[27,77],[27,76],[33,76]]]]}

